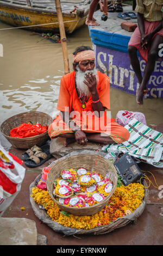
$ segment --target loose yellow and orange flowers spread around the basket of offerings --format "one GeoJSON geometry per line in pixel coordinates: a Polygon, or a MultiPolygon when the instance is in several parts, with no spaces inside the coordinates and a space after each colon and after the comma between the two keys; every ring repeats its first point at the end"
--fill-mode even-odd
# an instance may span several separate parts
{"type": "MultiPolygon", "coordinates": [[[[98,226],[107,225],[117,218],[127,215],[129,212],[134,212],[141,204],[144,196],[145,191],[142,184],[131,183],[128,186],[121,185],[116,188],[108,205],[103,210],[91,216],[76,216],[62,211],[51,199],[48,191],[33,187],[31,194],[34,202],[42,205],[47,211],[47,215],[53,221],[57,221],[65,227],[89,230],[98,226]]],[[[68,198],[66,200],[68,203],[70,202],[68,198]]],[[[82,204],[82,200],[80,203],[82,204]]]]}

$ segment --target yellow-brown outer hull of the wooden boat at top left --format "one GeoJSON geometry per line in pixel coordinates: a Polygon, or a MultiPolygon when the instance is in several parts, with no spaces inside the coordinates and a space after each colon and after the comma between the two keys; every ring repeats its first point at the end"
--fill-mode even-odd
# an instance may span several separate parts
{"type": "MultiPolygon", "coordinates": [[[[77,13],[62,14],[62,16],[65,32],[71,34],[74,30],[84,25],[87,13],[83,17],[79,17],[77,13]]],[[[21,27],[30,31],[59,32],[57,13],[52,11],[41,11],[30,7],[5,6],[0,3],[0,20],[11,26],[21,27]]]]}

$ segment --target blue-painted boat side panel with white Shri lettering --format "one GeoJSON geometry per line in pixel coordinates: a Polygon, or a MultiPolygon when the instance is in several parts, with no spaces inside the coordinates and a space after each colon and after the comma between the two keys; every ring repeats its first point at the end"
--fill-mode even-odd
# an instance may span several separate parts
{"type": "MultiPolygon", "coordinates": [[[[110,86],[130,94],[136,94],[139,83],[127,52],[117,51],[108,47],[93,44],[96,51],[96,68],[109,76],[110,86]]],[[[141,71],[145,70],[146,62],[138,56],[141,71]]],[[[149,78],[148,93],[145,97],[163,97],[163,58],[156,59],[154,71],[149,78]]]]}

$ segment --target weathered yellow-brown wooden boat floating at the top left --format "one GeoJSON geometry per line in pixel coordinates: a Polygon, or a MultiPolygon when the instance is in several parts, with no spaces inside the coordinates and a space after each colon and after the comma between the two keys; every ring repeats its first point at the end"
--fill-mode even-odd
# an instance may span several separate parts
{"type": "MultiPolygon", "coordinates": [[[[65,32],[83,26],[90,0],[61,0],[65,32]]],[[[14,27],[35,32],[59,32],[54,0],[0,0],[0,20],[14,27]]]]}

